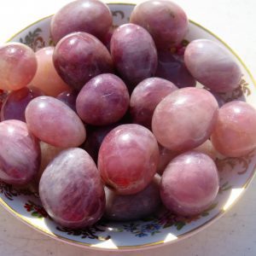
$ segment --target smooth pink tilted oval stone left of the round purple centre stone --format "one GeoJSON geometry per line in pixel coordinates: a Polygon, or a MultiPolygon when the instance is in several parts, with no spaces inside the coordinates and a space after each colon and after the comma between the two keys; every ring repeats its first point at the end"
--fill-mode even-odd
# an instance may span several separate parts
{"type": "Polygon", "coordinates": [[[59,148],[78,147],[86,131],[79,116],[65,103],[50,96],[39,96],[26,107],[28,129],[42,140],[59,148]]]}

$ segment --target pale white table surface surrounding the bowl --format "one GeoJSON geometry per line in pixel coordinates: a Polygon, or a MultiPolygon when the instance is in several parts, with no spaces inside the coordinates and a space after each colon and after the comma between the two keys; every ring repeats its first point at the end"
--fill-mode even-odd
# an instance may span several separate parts
{"type": "MultiPolygon", "coordinates": [[[[46,15],[55,13],[68,0],[8,0],[0,2],[0,43],[46,15]]],[[[108,1],[110,2],[110,1],[108,1]]],[[[122,2],[116,0],[114,2],[122,2]]],[[[128,1],[136,3],[136,1],[128,1]]],[[[224,39],[256,75],[255,0],[176,0],[189,16],[224,39]]],[[[256,179],[241,200],[206,230],[165,247],[136,253],[98,253],[44,236],[20,223],[0,207],[0,255],[256,255],[256,179]]]]}

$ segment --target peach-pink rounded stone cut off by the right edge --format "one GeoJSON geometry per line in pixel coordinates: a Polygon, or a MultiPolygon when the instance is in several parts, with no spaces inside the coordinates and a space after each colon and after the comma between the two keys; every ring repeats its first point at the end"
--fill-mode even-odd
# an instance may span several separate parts
{"type": "Polygon", "coordinates": [[[246,155],[256,148],[256,110],[247,102],[229,102],[219,108],[212,145],[230,157],[246,155]]]}

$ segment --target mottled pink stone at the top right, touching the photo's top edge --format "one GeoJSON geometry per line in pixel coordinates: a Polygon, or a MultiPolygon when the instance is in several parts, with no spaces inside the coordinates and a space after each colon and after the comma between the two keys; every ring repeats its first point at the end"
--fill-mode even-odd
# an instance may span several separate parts
{"type": "Polygon", "coordinates": [[[189,24],[183,9],[168,0],[138,3],[131,12],[130,22],[147,29],[156,47],[163,50],[179,44],[188,32],[189,24]]]}

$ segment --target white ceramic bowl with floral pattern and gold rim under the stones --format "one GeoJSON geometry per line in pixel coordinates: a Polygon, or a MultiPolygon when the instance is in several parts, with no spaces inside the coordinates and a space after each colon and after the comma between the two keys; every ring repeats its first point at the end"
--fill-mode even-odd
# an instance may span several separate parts
{"type": "MultiPolygon", "coordinates": [[[[113,14],[114,25],[128,22],[133,4],[109,4],[113,14]]],[[[51,45],[49,22],[51,17],[38,20],[15,34],[10,41],[21,42],[37,50],[51,45]]],[[[203,26],[189,21],[189,34],[186,39],[208,38],[222,44],[241,67],[243,77],[238,89],[223,94],[226,102],[243,98],[256,108],[255,83],[247,67],[227,44],[209,32],[203,26]]],[[[11,185],[0,183],[0,203],[15,217],[20,218],[35,230],[47,236],[87,248],[131,250],[162,246],[185,237],[194,235],[205,229],[213,221],[220,218],[230,209],[241,194],[247,189],[253,178],[256,167],[256,152],[240,158],[224,158],[217,160],[220,176],[218,196],[211,207],[192,218],[178,217],[171,212],[160,212],[157,216],[138,221],[113,223],[102,221],[84,230],[63,228],[49,218],[37,195],[28,189],[15,189],[11,185]]]]}

